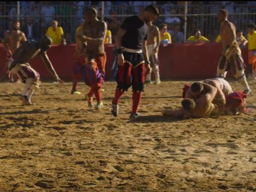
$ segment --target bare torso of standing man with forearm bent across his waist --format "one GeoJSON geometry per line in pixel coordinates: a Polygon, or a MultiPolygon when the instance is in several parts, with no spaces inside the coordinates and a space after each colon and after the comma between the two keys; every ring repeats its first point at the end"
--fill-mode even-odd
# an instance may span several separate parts
{"type": "Polygon", "coordinates": [[[86,54],[104,53],[104,40],[106,37],[106,23],[96,20],[94,23],[84,23],[83,35],[94,40],[87,39],[86,54]]]}

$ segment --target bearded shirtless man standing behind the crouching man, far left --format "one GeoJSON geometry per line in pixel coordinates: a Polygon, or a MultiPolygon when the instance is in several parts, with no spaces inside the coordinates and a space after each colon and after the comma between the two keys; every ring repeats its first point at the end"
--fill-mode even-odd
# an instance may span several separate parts
{"type": "MultiPolygon", "coordinates": [[[[25,33],[20,31],[20,21],[13,21],[13,29],[4,36],[4,48],[7,53],[7,69],[10,67],[11,62],[13,62],[13,53],[20,47],[20,44],[27,41],[25,33]]],[[[13,75],[10,76],[10,81],[14,81],[13,75]]]]}

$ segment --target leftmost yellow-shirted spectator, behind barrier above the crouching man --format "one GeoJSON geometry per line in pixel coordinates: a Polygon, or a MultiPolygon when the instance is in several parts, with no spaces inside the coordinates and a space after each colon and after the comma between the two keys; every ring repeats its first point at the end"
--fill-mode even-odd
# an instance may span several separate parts
{"type": "Polygon", "coordinates": [[[53,40],[53,44],[64,44],[66,45],[66,39],[63,38],[64,32],[62,27],[58,27],[58,22],[56,20],[51,21],[51,27],[47,29],[47,36],[53,40]]]}

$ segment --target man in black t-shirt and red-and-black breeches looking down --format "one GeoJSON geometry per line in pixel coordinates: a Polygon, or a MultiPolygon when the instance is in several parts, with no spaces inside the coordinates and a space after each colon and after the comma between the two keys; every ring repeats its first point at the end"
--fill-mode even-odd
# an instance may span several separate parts
{"type": "Polygon", "coordinates": [[[118,53],[118,74],[116,77],[117,89],[112,100],[111,110],[115,117],[118,115],[119,99],[130,86],[133,90],[130,119],[139,116],[138,107],[144,91],[145,65],[147,70],[150,71],[147,50],[147,23],[153,22],[158,15],[159,10],[154,5],[148,5],[139,16],[127,17],[115,36],[115,47],[118,53]]]}

